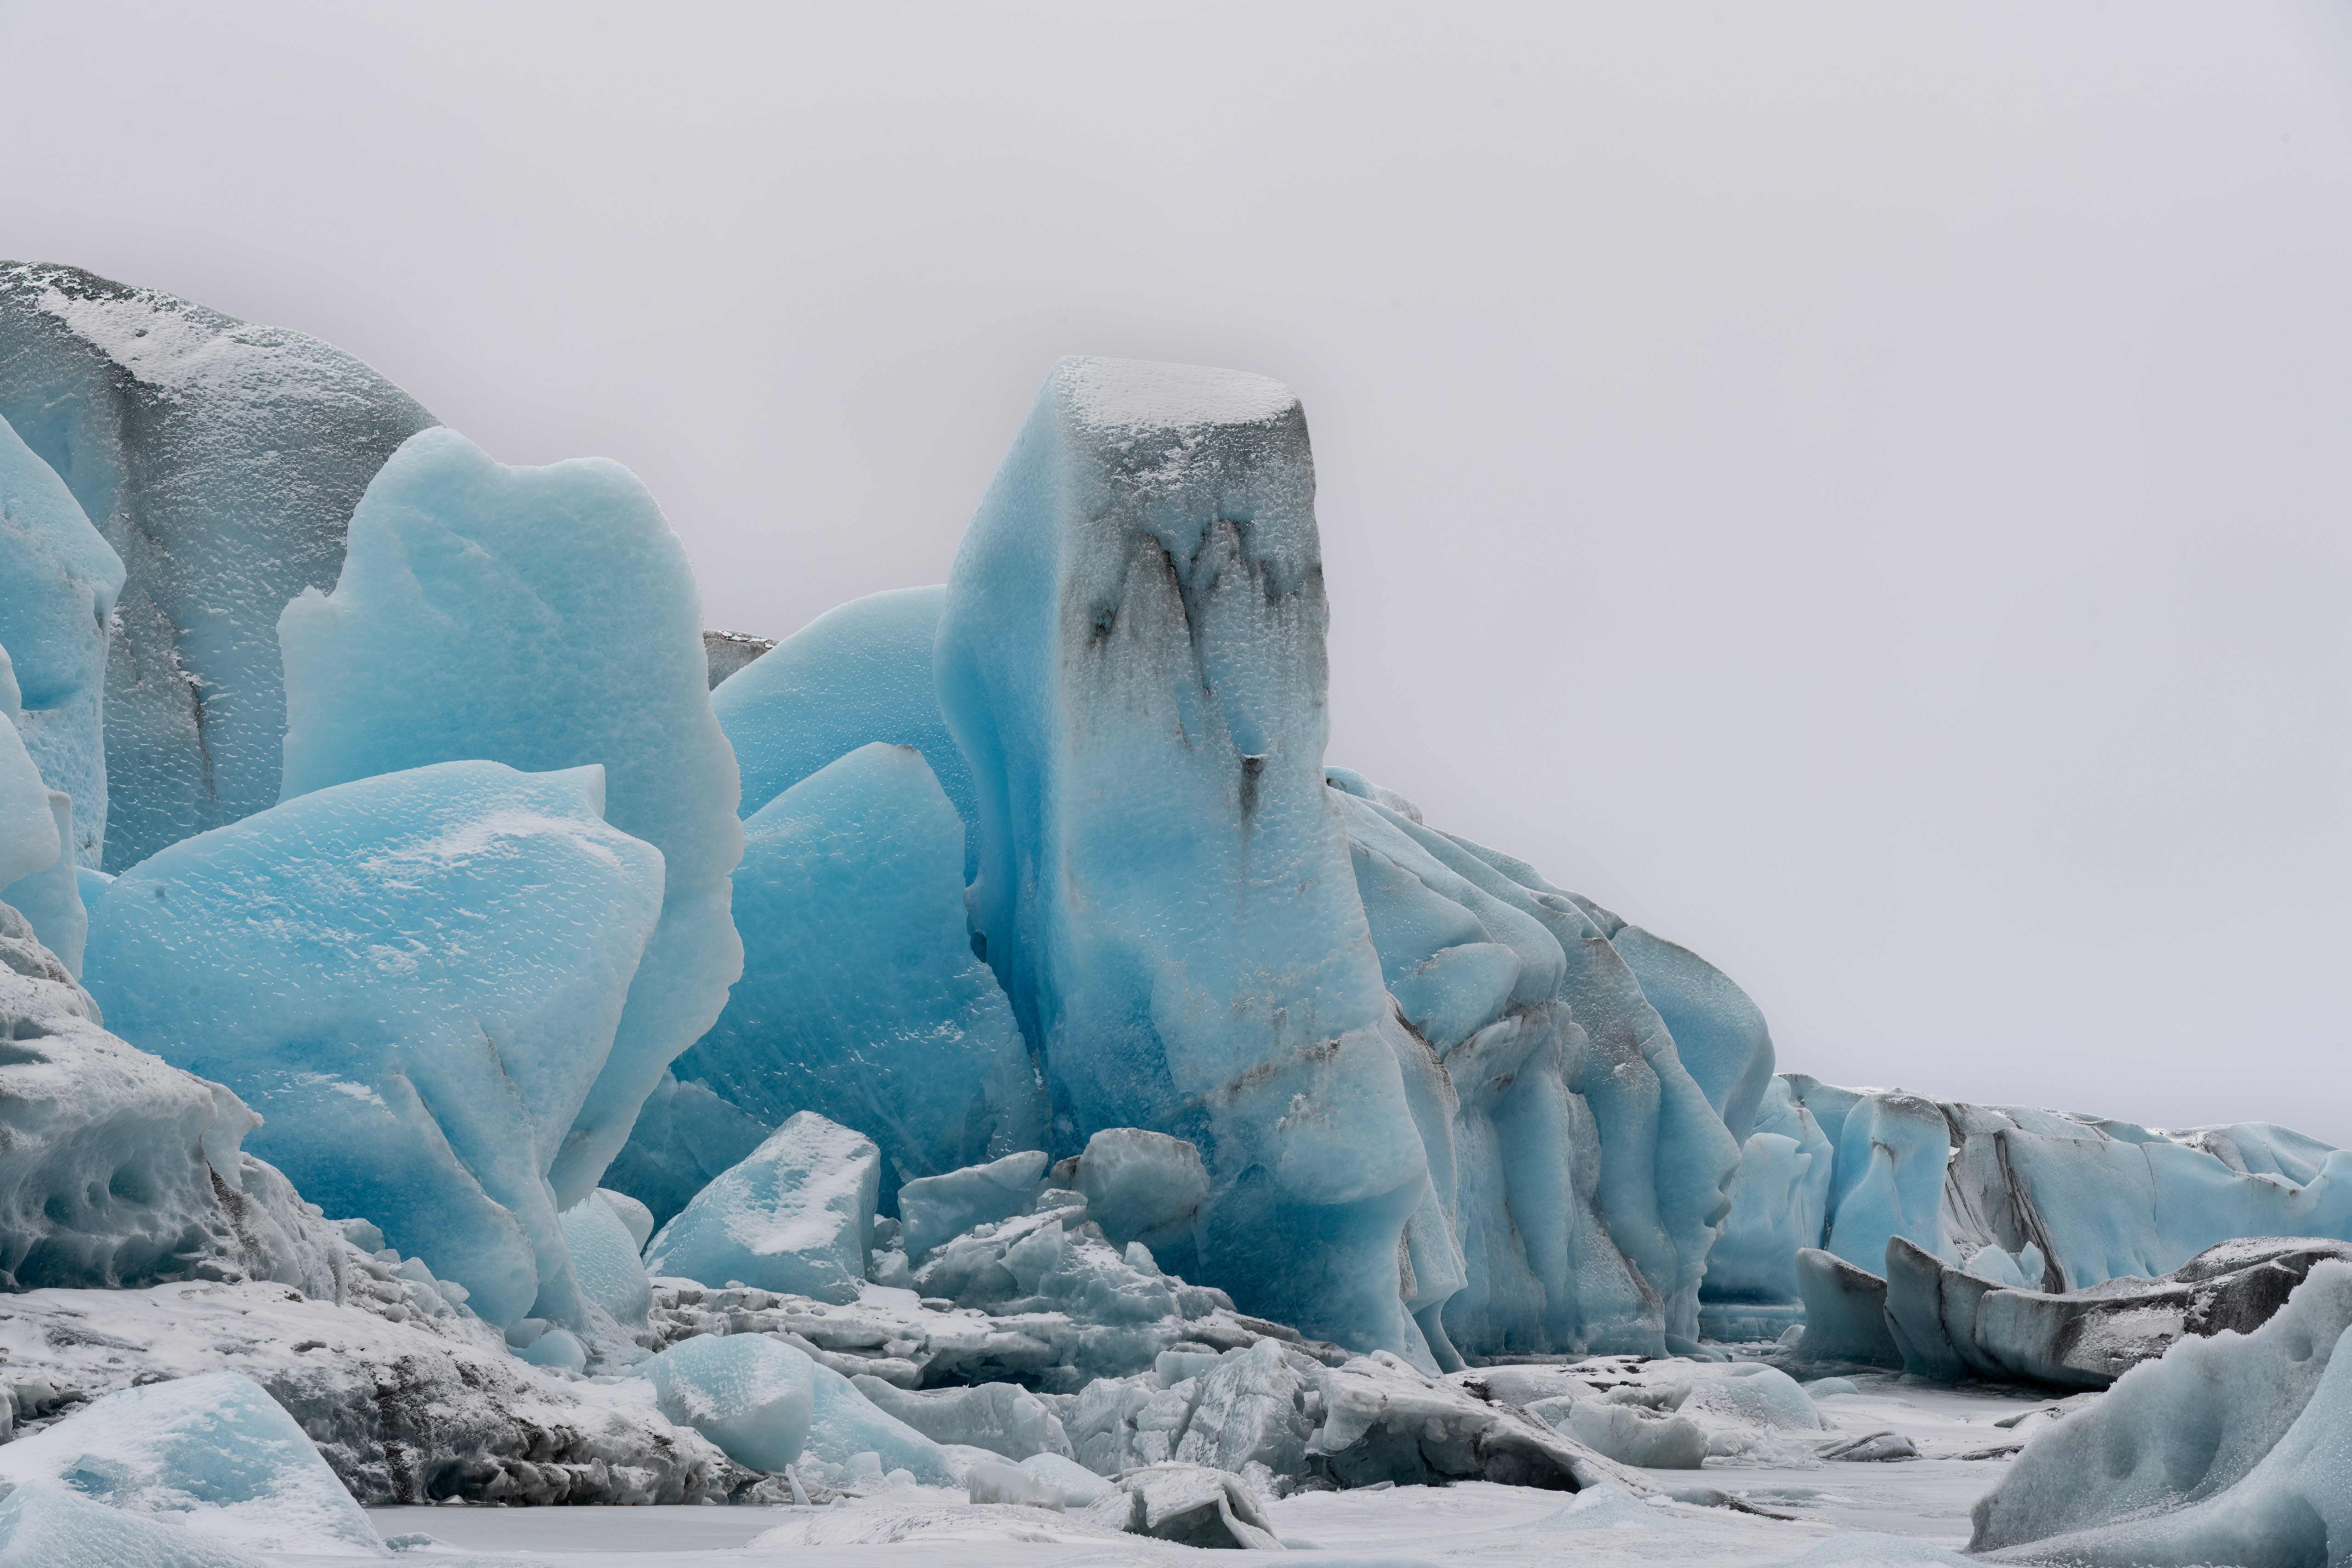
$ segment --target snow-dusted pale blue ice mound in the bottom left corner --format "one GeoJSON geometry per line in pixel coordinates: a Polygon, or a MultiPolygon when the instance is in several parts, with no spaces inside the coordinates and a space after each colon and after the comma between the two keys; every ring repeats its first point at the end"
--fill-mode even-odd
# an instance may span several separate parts
{"type": "Polygon", "coordinates": [[[381,1552],[367,1514],[294,1418],[238,1373],[106,1394],[0,1446],[0,1479],[54,1481],[249,1552],[381,1552]]]}

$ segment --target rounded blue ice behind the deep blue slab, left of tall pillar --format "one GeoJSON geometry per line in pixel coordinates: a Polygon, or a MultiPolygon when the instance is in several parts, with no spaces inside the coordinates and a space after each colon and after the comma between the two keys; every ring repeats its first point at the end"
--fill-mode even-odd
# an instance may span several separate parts
{"type": "Polygon", "coordinates": [[[971,764],[938,717],[931,644],[946,588],[894,588],[828,609],[741,668],[710,710],[743,769],[743,816],[870,741],[913,745],[964,823],[957,884],[978,863],[971,764]]]}

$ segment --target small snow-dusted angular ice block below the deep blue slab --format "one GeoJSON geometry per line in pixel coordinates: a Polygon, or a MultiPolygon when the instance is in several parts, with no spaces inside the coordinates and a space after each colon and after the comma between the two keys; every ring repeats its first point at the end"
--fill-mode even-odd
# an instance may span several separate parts
{"type": "Polygon", "coordinates": [[[880,1173],[870,1138],[797,1112],[654,1234],[644,1267],[706,1286],[743,1281],[854,1302],[873,1248],[880,1173]]]}

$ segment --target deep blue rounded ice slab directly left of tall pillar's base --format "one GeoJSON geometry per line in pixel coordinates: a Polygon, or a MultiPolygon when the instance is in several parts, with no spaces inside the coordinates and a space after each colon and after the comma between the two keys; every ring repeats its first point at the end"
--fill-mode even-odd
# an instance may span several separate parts
{"type": "Polygon", "coordinates": [[[880,741],[755,811],[743,978],[677,1063],[762,1121],[814,1110],[873,1138],[884,1206],[1044,1138],[1028,1044],[971,954],[962,837],[922,752],[880,741]]]}

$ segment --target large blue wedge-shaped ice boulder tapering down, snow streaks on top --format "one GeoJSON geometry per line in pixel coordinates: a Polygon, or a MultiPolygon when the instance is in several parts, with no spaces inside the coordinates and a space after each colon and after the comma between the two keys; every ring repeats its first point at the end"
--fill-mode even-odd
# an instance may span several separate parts
{"type": "Polygon", "coordinates": [[[600,806],[597,769],[496,762],[299,795],[122,875],[89,987],[485,1319],[579,1321],[548,1168],[661,898],[661,856],[600,806]]]}

